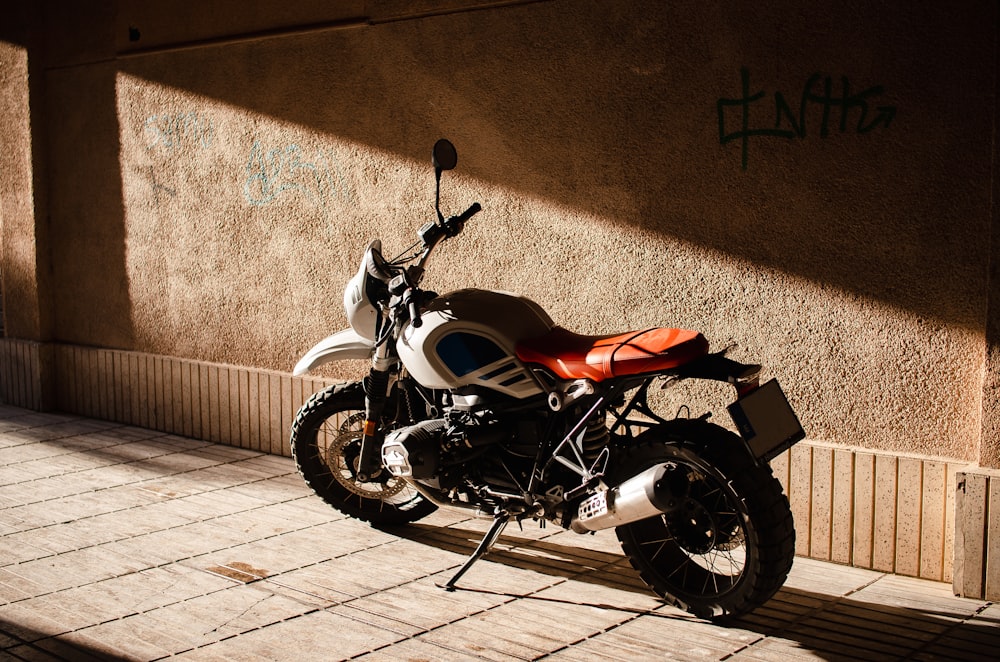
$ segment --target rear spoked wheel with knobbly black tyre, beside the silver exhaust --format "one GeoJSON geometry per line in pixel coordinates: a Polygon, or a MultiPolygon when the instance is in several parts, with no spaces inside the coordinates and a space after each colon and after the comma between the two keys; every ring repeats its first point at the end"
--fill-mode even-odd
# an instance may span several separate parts
{"type": "Polygon", "coordinates": [[[622,549],[681,609],[702,618],[749,612],[781,588],[792,566],[795,529],[781,484],[722,428],[685,422],[678,435],[665,427],[623,452],[616,473],[666,463],[675,507],[618,527],[622,549]]]}

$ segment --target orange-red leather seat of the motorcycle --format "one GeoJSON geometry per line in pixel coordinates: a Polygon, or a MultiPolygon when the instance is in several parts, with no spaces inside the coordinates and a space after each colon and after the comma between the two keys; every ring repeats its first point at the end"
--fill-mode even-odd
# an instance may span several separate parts
{"type": "Polygon", "coordinates": [[[517,358],[538,363],[561,379],[595,382],[669,370],[708,353],[697,331],[646,329],[614,336],[581,336],[555,327],[517,345],[517,358]]]}

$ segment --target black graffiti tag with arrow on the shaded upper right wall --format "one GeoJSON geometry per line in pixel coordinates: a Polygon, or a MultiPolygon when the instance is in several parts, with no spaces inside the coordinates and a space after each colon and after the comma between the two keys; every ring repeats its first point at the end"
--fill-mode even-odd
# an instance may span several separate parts
{"type": "Polygon", "coordinates": [[[740,70],[740,77],[742,95],[736,99],[719,99],[717,108],[719,142],[722,145],[733,141],[740,142],[744,170],[747,169],[749,160],[751,138],[802,140],[806,137],[807,125],[815,130],[817,122],[820,138],[829,136],[831,130],[839,133],[854,131],[864,134],[880,127],[889,128],[889,124],[896,116],[895,106],[876,105],[877,98],[885,91],[881,85],[854,92],[846,76],[841,77],[839,86],[835,86],[832,77],[813,74],[802,87],[797,108],[792,107],[784,94],[775,92],[773,122],[770,125],[758,124],[750,119],[751,107],[759,109],[758,113],[765,113],[767,119],[772,119],[767,115],[769,108],[765,93],[761,90],[751,94],[750,71],[746,67],[740,70]],[[738,109],[739,128],[727,132],[726,111],[729,108],[738,109]]]}

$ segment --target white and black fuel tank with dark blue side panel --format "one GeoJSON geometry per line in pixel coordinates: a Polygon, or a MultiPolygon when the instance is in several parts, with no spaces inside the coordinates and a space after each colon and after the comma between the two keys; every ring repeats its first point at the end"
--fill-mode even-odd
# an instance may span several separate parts
{"type": "Polygon", "coordinates": [[[407,324],[396,350],[414,379],[427,388],[481,386],[518,399],[543,393],[514,353],[517,342],[554,326],[530,299],[490,290],[457,290],[437,297],[407,324]]]}

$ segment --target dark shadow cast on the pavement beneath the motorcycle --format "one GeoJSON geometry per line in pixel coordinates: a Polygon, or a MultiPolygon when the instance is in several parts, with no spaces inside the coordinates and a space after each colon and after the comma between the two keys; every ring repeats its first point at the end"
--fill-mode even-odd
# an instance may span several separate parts
{"type": "MultiPolygon", "coordinates": [[[[479,530],[424,524],[384,527],[384,530],[462,555],[463,560],[472,554],[483,535],[479,530]]],[[[610,535],[610,544],[616,543],[613,533],[601,535],[610,535]]],[[[442,573],[440,581],[447,581],[448,576],[447,572],[442,573]]],[[[822,583],[813,582],[810,574],[804,579],[805,583],[822,583]]],[[[980,656],[986,651],[995,651],[1000,646],[1000,618],[993,611],[982,613],[986,607],[976,613],[962,613],[940,604],[934,596],[920,604],[903,606],[893,597],[894,580],[889,577],[886,581],[890,583],[886,591],[872,594],[861,589],[848,591],[846,595],[835,589],[824,593],[786,585],[769,602],[746,616],[709,623],[657,599],[622,554],[503,535],[492,551],[462,578],[456,590],[552,604],[554,609],[562,604],[617,610],[628,615],[627,621],[659,620],[669,627],[691,627],[702,633],[705,628],[723,628],[731,633],[724,635],[726,639],[735,636],[744,642],[744,648],[765,641],[767,645],[777,642],[779,646],[791,646],[828,660],[903,660],[919,652],[946,659],[982,659],[980,656]],[[481,566],[487,563],[544,575],[554,581],[544,581],[539,588],[537,576],[534,580],[521,580],[518,573],[509,573],[506,582],[509,587],[498,589],[495,579],[490,581],[484,576],[490,573],[482,572],[481,566]],[[478,584],[477,569],[481,573],[478,584]],[[573,590],[549,590],[564,583],[573,584],[573,590]]],[[[799,583],[803,583],[802,578],[799,583]]]]}

